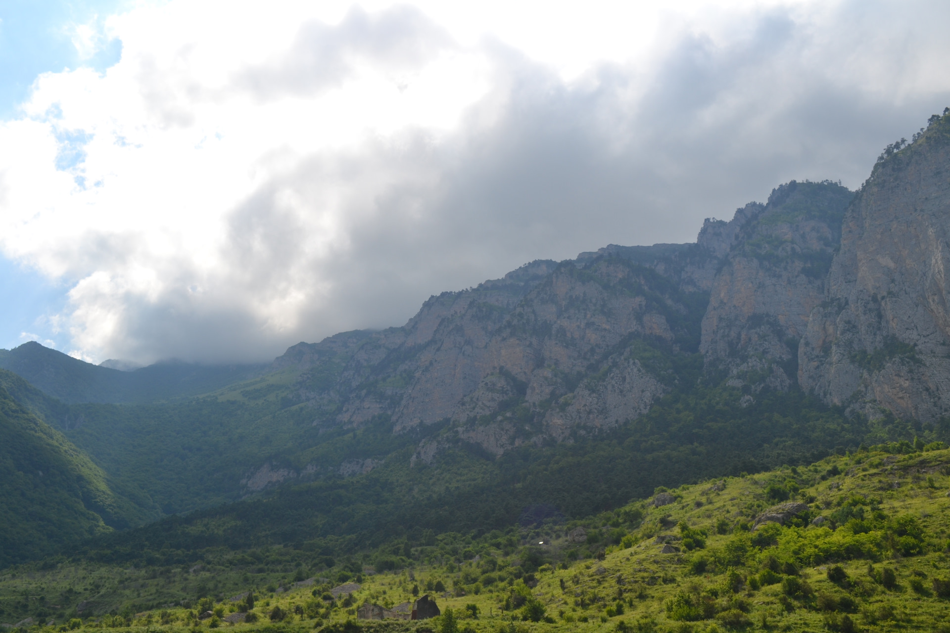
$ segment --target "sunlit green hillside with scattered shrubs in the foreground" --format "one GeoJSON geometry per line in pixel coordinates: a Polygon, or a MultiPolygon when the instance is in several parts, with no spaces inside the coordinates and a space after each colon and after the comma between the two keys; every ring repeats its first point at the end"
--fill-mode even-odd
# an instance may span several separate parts
{"type": "Polygon", "coordinates": [[[76,559],[14,568],[0,576],[0,617],[52,619],[50,633],[61,625],[327,633],[948,630],[950,451],[916,446],[891,443],[798,468],[658,489],[566,522],[428,532],[416,544],[390,536],[336,558],[258,547],[209,550],[186,564],[76,559]],[[764,520],[769,513],[772,520],[764,520]],[[328,600],[348,581],[360,588],[328,600]],[[241,599],[248,590],[257,598],[257,622],[222,623],[248,610],[241,599]],[[391,607],[419,593],[432,595],[444,615],[418,623],[354,620],[364,602],[391,607]],[[217,616],[198,620],[205,610],[217,616]]]}

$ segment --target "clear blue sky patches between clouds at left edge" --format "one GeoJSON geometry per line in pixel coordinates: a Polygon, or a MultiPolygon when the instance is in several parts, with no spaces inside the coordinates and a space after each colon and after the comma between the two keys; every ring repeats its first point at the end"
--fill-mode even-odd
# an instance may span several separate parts
{"type": "MultiPolygon", "coordinates": [[[[0,2],[0,120],[18,116],[18,106],[34,80],[44,72],[87,66],[103,71],[119,61],[121,43],[113,41],[87,59],[72,42],[76,25],[101,22],[123,5],[121,0],[65,2],[2,0],[0,2]]],[[[55,332],[48,317],[66,304],[65,283],[0,255],[0,347],[24,343],[24,333],[49,340],[63,349],[66,332],[55,332]]],[[[31,338],[31,337],[30,337],[31,338]]]]}

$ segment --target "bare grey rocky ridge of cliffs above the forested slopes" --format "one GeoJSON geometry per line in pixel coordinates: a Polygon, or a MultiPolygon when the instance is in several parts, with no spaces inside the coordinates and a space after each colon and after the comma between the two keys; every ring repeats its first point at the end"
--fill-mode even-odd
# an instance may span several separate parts
{"type": "Polygon", "coordinates": [[[694,353],[743,399],[801,387],[872,418],[936,419],[950,389],[948,127],[932,119],[858,195],[793,180],[707,219],[693,244],[533,262],[274,367],[300,371],[321,424],[447,424],[423,462],[452,442],[498,456],[637,419],[675,384],[670,358],[694,353]]]}

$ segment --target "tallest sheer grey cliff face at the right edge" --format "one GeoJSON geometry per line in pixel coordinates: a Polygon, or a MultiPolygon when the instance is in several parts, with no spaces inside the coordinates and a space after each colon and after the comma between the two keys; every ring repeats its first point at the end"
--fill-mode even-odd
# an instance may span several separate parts
{"type": "Polygon", "coordinates": [[[950,116],[888,153],[845,214],[799,380],[872,418],[932,420],[950,410],[950,116]]]}

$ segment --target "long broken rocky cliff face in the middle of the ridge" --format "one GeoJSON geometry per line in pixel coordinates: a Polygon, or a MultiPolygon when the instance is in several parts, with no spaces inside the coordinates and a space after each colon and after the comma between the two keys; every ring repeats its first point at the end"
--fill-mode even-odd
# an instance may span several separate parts
{"type": "Polygon", "coordinates": [[[534,262],[432,297],[406,326],[297,344],[272,369],[298,372],[316,425],[385,419],[405,433],[448,421],[494,455],[615,426],[675,382],[657,357],[695,352],[703,290],[748,215],[708,220],[696,244],[534,262]]]}

